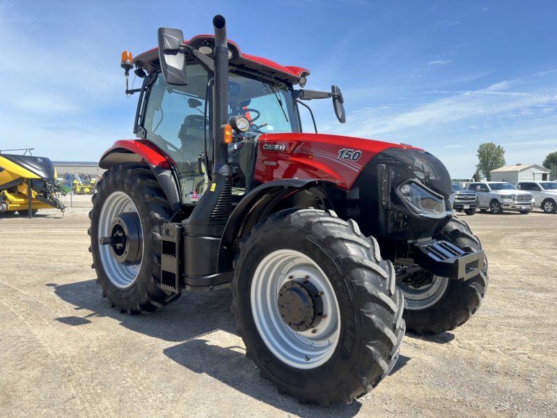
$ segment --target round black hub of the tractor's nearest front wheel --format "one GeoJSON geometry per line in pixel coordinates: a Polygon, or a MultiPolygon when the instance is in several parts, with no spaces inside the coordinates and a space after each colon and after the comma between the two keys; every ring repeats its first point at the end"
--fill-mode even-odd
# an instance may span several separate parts
{"type": "Polygon", "coordinates": [[[311,281],[290,280],[278,292],[278,310],[292,330],[306,331],[321,322],[323,301],[311,281]]]}

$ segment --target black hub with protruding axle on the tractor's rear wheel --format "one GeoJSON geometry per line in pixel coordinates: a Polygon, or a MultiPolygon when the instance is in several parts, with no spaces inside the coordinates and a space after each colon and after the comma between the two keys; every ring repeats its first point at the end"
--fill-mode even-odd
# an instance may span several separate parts
{"type": "Polygon", "coordinates": [[[112,258],[124,265],[141,263],[143,233],[136,212],[124,212],[115,217],[109,226],[109,237],[99,238],[100,245],[109,245],[112,258]]]}

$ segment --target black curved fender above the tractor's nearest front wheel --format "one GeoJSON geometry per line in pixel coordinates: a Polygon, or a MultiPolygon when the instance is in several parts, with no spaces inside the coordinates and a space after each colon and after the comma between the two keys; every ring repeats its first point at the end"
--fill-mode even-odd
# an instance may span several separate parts
{"type": "Polygon", "coordinates": [[[226,223],[219,249],[219,273],[232,270],[232,262],[240,251],[240,240],[263,218],[278,210],[310,205],[331,209],[327,189],[334,187],[336,184],[328,180],[287,178],[253,189],[238,203],[226,223]]]}

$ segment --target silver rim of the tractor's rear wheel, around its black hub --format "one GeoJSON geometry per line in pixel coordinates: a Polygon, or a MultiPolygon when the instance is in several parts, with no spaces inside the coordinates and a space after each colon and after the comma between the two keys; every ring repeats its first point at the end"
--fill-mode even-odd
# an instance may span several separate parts
{"type": "MultiPolygon", "coordinates": [[[[123,212],[136,212],[139,214],[130,196],[124,192],[113,192],[107,197],[107,200],[104,201],[104,205],[102,206],[99,218],[98,236],[109,236],[111,234],[110,229],[113,219],[123,212]]],[[[141,224],[141,217],[139,217],[139,222],[141,224]]],[[[141,226],[141,228],[143,228],[143,226],[141,226]]],[[[107,274],[112,284],[122,289],[130,287],[139,273],[141,261],[135,265],[118,263],[118,261],[113,258],[109,245],[100,245],[98,242],[96,245],[99,247],[99,254],[104,272],[107,274]]]]}

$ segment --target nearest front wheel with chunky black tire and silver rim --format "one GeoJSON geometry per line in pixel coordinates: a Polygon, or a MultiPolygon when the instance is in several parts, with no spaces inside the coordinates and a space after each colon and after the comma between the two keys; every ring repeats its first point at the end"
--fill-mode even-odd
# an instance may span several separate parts
{"type": "Polygon", "coordinates": [[[279,392],[301,403],[350,403],[393,368],[405,334],[402,295],[393,265],[354,221],[331,211],[278,212],[244,238],[234,270],[232,311],[246,356],[279,392]],[[311,286],[326,318],[316,327],[311,318],[299,326],[283,319],[295,312],[288,292],[311,286]]]}

